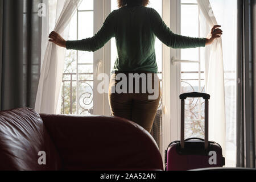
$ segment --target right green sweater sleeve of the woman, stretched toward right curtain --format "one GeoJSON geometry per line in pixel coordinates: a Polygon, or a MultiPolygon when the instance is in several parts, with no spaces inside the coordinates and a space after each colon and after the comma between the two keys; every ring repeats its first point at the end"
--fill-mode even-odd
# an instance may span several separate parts
{"type": "Polygon", "coordinates": [[[207,39],[205,38],[191,38],[188,36],[182,36],[174,34],[170,28],[167,27],[166,23],[159,13],[151,9],[150,21],[151,27],[156,37],[162,41],[166,46],[172,48],[196,48],[205,47],[207,39]]]}

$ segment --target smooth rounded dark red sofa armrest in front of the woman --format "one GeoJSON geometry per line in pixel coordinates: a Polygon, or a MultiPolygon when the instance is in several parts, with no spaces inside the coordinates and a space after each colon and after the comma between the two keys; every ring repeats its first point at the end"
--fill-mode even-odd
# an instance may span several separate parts
{"type": "Polygon", "coordinates": [[[160,169],[162,157],[151,135],[118,117],[40,114],[63,170],[160,169]]]}

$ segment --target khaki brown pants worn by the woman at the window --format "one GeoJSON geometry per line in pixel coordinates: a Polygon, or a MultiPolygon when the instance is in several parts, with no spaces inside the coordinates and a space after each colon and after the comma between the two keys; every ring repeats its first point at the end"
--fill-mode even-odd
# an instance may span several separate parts
{"type": "MultiPolygon", "coordinates": [[[[148,75],[149,72],[129,72],[129,73],[144,73],[148,75]]],[[[142,92],[142,86],[145,86],[144,81],[139,79],[139,93],[135,93],[135,81],[133,86],[133,92],[128,92],[129,84],[128,82],[131,80],[129,79],[129,73],[125,72],[123,74],[127,77],[127,92],[126,93],[113,93],[113,89],[116,88],[117,84],[121,80],[116,80],[118,73],[113,73],[110,78],[109,84],[109,104],[112,111],[112,115],[129,119],[138,125],[141,125],[145,130],[149,133],[151,131],[156,111],[158,110],[159,100],[160,100],[160,81],[157,75],[154,73],[149,73],[152,75],[150,78],[147,77],[147,84],[148,82],[152,81],[151,88],[154,89],[154,92],[158,92],[156,94],[156,99],[149,99],[148,96],[154,95],[154,93],[150,94],[147,90],[146,93],[142,92]],[[156,76],[156,77],[155,77],[156,76]],[[155,81],[158,81],[158,88],[155,89],[155,81]]],[[[138,86],[138,85],[137,85],[138,86]]]]}

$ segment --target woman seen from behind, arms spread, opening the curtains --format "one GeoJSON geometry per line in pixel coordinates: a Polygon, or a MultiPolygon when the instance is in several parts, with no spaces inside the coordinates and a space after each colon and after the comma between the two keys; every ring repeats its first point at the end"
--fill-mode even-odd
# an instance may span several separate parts
{"type": "Polygon", "coordinates": [[[115,37],[118,57],[109,85],[112,114],[136,122],[150,132],[160,100],[155,38],[158,37],[166,46],[172,48],[196,48],[211,44],[214,39],[220,38],[222,31],[220,26],[214,26],[208,38],[174,34],[154,9],[146,7],[148,3],[148,0],[118,0],[119,9],[109,14],[101,29],[92,38],[66,41],[53,31],[49,35],[49,41],[67,49],[97,51],[115,37]],[[136,78],[139,78],[138,82],[136,78]],[[120,81],[126,81],[127,85],[121,86],[126,91],[113,92],[117,86],[119,88],[120,81]],[[149,83],[153,86],[154,93],[148,92],[149,83]],[[157,97],[150,99],[148,96],[152,94],[157,97]]]}

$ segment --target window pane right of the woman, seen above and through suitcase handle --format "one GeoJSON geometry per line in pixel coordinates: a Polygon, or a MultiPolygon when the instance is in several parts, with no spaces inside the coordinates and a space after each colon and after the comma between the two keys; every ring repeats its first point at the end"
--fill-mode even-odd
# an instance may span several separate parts
{"type": "MultiPolygon", "coordinates": [[[[196,3],[196,1],[181,1],[196,3]]],[[[197,5],[181,5],[181,35],[200,37],[197,5]]],[[[181,49],[182,60],[201,61],[199,48],[181,49]]],[[[181,63],[181,93],[204,92],[204,73],[199,63],[181,63]]],[[[185,101],[185,138],[204,138],[204,101],[189,98],[185,101]]]]}

